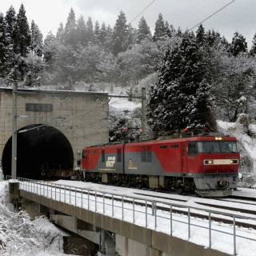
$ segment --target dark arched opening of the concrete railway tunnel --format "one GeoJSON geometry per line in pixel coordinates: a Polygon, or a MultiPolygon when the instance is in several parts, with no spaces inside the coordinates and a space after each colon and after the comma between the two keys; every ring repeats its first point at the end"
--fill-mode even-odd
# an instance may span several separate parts
{"type": "MultiPolygon", "coordinates": [[[[42,168],[73,169],[72,147],[66,136],[58,129],[36,124],[20,130],[28,131],[17,134],[17,177],[40,179],[42,168]],[[30,130],[31,128],[34,129],[30,130]]],[[[10,137],[2,153],[2,170],[5,175],[11,175],[11,147],[10,137]]]]}

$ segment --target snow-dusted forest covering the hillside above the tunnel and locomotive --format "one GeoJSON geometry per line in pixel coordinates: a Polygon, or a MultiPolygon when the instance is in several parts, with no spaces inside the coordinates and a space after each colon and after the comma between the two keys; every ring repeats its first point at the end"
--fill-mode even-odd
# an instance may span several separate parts
{"type": "Polygon", "coordinates": [[[128,86],[134,95],[134,86],[146,80],[146,118],[154,134],[187,126],[216,130],[216,119],[235,122],[239,114],[248,122],[255,119],[256,33],[251,40],[248,49],[238,31],[232,42],[202,25],[182,31],[162,14],[153,34],[145,18],[135,28],[122,11],[111,27],[76,18],[73,9],[66,24],[43,39],[36,23],[28,23],[25,7],[16,13],[10,6],[0,13],[0,86],[17,80],[25,88],[73,90],[79,84],[96,90],[102,84],[128,86]]]}

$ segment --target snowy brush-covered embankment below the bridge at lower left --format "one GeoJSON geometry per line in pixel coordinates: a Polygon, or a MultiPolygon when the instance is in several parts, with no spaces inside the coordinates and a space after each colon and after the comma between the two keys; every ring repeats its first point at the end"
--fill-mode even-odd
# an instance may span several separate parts
{"type": "Polygon", "coordinates": [[[63,254],[65,235],[45,217],[30,220],[25,211],[14,213],[6,200],[8,183],[0,182],[0,255],[50,256],[63,254]]]}

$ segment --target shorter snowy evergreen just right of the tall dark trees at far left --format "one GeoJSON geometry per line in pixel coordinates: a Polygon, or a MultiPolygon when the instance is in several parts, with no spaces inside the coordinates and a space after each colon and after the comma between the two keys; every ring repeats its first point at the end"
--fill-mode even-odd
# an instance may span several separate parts
{"type": "Polygon", "coordinates": [[[39,57],[42,57],[42,33],[39,30],[38,25],[34,23],[34,20],[31,22],[31,45],[30,48],[32,50],[32,53],[34,55],[37,55],[39,57]]]}

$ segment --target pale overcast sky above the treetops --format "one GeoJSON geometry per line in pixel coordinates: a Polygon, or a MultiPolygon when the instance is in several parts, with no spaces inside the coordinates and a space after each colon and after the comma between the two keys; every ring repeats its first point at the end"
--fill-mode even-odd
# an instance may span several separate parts
{"type": "MultiPolygon", "coordinates": [[[[0,12],[6,15],[6,10],[12,5],[18,13],[23,3],[28,21],[31,23],[34,19],[45,37],[50,30],[56,34],[60,22],[65,26],[71,7],[77,19],[82,15],[85,20],[91,17],[94,23],[105,22],[113,27],[121,10],[126,14],[129,23],[151,2],[153,0],[2,0],[0,12]]],[[[144,16],[154,32],[158,14],[162,13],[164,20],[173,24],[174,28],[180,26],[182,30],[186,30],[229,2],[232,0],[154,0],[132,25],[137,27],[139,19],[144,16]]],[[[256,0],[235,0],[202,24],[206,30],[217,30],[229,41],[232,40],[234,32],[238,31],[246,37],[250,47],[256,33],[256,0]]]]}

